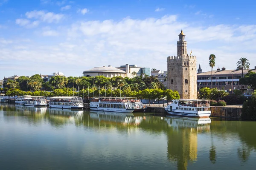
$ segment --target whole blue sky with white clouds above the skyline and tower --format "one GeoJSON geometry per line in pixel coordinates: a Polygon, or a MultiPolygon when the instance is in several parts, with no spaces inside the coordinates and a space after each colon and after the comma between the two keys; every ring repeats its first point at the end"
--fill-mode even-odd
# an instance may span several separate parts
{"type": "Polygon", "coordinates": [[[256,66],[253,0],[0,0],[0,79],[93,67],[167,71],[180,30],[203,72],[256,66]]]}

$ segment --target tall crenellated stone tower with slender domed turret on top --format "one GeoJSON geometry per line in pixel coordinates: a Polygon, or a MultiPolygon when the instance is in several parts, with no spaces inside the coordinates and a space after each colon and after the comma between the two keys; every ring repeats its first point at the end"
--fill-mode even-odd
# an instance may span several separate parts
{"type": "Polygon", "coordinates": [[[185,34],[181,30],[177,56],[167,57],[168,88],[176,90],[180,99],[197,99],[196,57],[187,54],[185,34]]]}

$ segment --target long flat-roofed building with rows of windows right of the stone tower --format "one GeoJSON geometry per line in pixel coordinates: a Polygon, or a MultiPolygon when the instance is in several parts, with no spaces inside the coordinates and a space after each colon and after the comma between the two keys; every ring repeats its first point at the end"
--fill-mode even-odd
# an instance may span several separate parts
{"type": "MultiPolygon", "coordinates": [[[[248,71],[253,71],[256,73],[256,67],[254,69],[244,70],[244,75],[248,73],[248,71]]],[[[242,77],[242,70],[226,70],[226,68],[217,68],[217,70],[207,71],[204,73],[197,74],[197,88],[198,90],[203,87],[218,88],[228,91],[233,91],[234,89],[241,89],[241,85],[239,84],[239,79],[242,77]],[[212,81],[211,81],[212,78],[212,81]]],[[[243,89],[246,90],[248,88],[247,85],[243,85],[243,89]]]]}

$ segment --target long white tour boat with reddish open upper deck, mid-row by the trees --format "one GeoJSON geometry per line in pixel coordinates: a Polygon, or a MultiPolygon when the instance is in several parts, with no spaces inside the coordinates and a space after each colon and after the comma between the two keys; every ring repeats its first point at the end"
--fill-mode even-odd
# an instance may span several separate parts
{"type": "Polygon", "coordinates": [[[132,113],[134,107],[123,97],[94,97],[90,101],[90,110],[132,113]]]}

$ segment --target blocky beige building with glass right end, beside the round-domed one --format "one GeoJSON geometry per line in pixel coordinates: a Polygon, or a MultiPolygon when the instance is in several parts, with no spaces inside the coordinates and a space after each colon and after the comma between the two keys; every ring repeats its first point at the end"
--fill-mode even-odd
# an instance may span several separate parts
{"type": "Polygon", "coordinates": [[[150,76],[150,68],[147,67],[138,67],[137,65],[121,65],[120,67],[117,67],[118,69],[125,71],[126,77],[133,78],[140,75],[147,74],[150,76]],[[133,72],[136,72],[136,75],[132,75],[133,72]]]}

